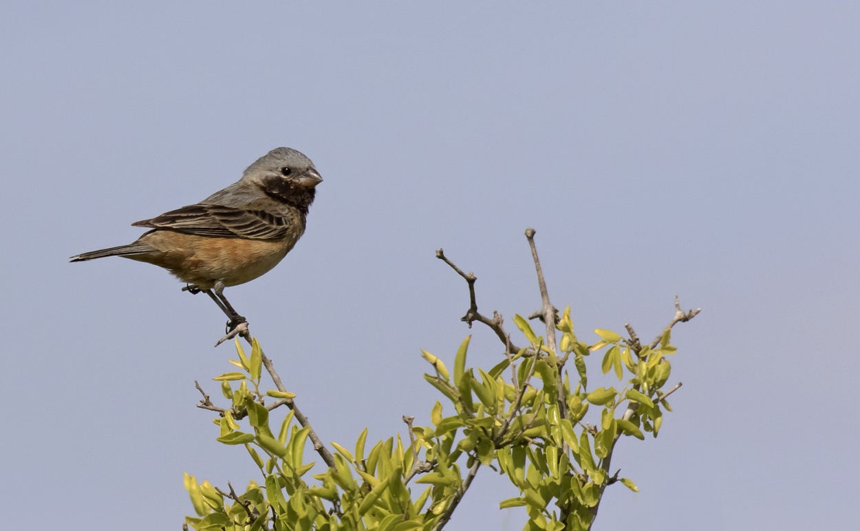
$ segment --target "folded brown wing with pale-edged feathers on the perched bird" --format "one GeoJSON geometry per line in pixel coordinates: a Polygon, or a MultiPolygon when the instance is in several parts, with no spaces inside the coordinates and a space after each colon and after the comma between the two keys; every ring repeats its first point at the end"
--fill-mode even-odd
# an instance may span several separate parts
{"type": "Polygon", "coordinates": [[[132,223],[134,227],[170,229],[190,235],[268,240],[287,234],[287,220],[267,211],[222,204],[191,204],[161,216],[132,223]]]}

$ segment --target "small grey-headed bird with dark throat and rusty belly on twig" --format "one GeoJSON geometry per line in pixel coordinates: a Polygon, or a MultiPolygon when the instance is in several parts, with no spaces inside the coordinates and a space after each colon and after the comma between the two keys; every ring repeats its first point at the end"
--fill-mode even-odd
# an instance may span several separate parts
{"type": "Polygon", "coordinates": [[[304,234],[315,186],[314,163],[290,148],[276,148],[251,164],[242,179],[197,204],[132,223],[152,230],[136,241],[71,257],[81,262],[121,256],[163,267],[203,291],[230,318],[244,322],[224,297],[225,286],[254,280],[289,253],[304,234]]]}

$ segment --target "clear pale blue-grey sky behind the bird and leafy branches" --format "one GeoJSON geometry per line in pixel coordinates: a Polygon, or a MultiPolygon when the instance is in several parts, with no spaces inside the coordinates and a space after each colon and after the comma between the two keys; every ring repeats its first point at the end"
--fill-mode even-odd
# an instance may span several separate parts
{"type": "MultiPolygon", "coordinates": [[[[307,232],[227,295],[324,441],[427,424],[421,348],[471,332],[497,362],[433,251],[510,323],[540,304],[531,226],[582,339],[703,308],[596,529],[853,528],[858,27],[851,2],[3,2],[0,526],[179,529],[183,472],[256,477],[194,407],[231,368],[218,308],[67,257],[284,145],[325,179],[307,232]]],[[[449,528],[519,529],[515,495],[482,471],[449,528]]]]}

